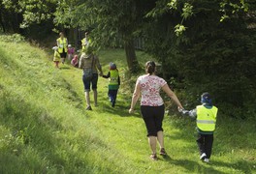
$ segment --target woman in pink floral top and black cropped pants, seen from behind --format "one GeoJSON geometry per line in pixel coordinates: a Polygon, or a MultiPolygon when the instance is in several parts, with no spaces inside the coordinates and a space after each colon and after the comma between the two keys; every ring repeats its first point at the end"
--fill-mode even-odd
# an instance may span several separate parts
{"type": "Polygon", "coordinates": [[[145,72],[146,74],[141,75],[137,79],[129,113],[134,111],[136,102],[142,93],[141,112],[147,130],[148,143],[152,151],[150,158],[152,160],[157,160],[157,141],[160,146],[160,155],[167,155],[164,147],[164,133],[162,128],[165,106],[163,99],[160,96],[160,90],[162,89],[172,100],[174,100],[178,108],[182,109],[183,107],[178,101],[176,94],[169,88],[167,82],[155,74],[155,63],[153,61],[145,63],[145,72]]]}

